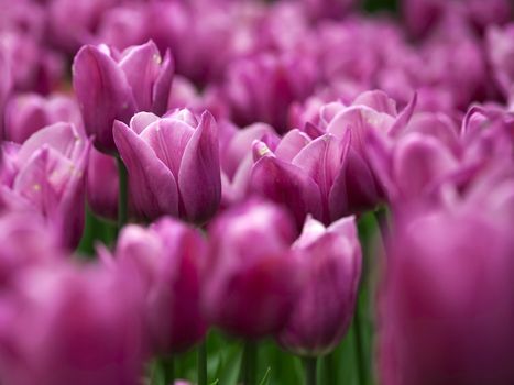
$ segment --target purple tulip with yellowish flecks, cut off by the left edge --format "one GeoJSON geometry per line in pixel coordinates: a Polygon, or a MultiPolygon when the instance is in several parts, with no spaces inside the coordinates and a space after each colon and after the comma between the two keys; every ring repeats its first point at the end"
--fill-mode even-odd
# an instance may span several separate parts
{"type": "Polygon", "coordinates": [[[70,123],[55,123],[23,145],[4,144],[0,199],[43,215],[75,248],[84,228],[85,173],[90,142],[70,123]]]}

